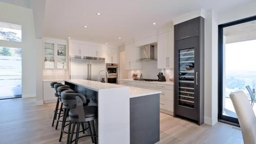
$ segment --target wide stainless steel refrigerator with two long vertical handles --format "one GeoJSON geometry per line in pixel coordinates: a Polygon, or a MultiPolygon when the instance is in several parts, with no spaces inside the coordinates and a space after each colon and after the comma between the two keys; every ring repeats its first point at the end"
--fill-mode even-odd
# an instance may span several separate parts
{"type": "MultiPolygon", "coordinates": [[[[101,69],[105,69],[104,58],[94,57],[71,57],[70,58],[70,79],[86,79],[98,81],[98,73],[101,69]]],[[[100,74],[101,78],[105,78],[105,74],[100,74]]]]}

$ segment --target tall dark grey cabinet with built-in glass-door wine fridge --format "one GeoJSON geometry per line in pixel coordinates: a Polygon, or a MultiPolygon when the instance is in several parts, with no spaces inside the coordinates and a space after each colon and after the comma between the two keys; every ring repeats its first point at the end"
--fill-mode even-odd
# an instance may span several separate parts
{"type": "Polygon", "coordinates": [[[174,26],[174,115],[204,123],[204,18],[174,26]]]}

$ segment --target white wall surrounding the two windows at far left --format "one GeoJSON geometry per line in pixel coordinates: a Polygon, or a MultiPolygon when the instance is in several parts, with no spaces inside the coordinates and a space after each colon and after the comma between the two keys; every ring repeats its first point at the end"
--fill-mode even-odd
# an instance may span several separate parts
{"type": "Polygon", "coordinates": [[[36,49],[32,9],[0,2],[0,21],[22,25],[22,42],[0,40],[0,46],[22,48],[22,95],[36,96],[36,49]]]}

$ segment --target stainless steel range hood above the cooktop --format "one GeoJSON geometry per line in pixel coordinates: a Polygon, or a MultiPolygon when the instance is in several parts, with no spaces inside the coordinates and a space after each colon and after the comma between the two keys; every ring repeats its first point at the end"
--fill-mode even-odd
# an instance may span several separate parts
{"type": "Polygon", "coordinates": [[[151,61],[155,59],[155,47],[153,44],[147,44],[139,47],[140,49],[140,59],[138,61],[151,61]]]}

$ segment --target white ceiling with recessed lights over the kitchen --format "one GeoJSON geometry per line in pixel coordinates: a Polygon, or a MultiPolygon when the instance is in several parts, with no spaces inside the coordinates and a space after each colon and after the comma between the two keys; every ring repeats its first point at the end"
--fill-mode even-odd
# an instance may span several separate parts
{"type": "Polygon", "coordinates": [[[183,13],[201,8],[220,13],[248,1],[253,0],[47,0],[44,36],[122,45],[183,13]]]}

